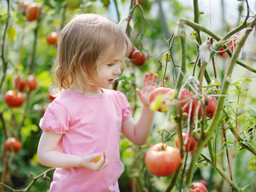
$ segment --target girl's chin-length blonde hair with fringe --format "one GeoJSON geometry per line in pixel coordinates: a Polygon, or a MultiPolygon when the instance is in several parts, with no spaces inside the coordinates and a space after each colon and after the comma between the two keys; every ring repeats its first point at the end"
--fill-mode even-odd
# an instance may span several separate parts
{"type": "MultiPolygon", "coordinates": [[[[99,60],[113,47],[114,58],[132,44],[124,31],[113,21],[96,14],[75,15],[60,31],[57,57],[52,72],[60,90],[79,86],[84,92],[98,75],[99,60]],[[93,74],[92,74],[93,71],[93,74]]],[[[106,56],[106,55],[105,55],[106,56]]]]}

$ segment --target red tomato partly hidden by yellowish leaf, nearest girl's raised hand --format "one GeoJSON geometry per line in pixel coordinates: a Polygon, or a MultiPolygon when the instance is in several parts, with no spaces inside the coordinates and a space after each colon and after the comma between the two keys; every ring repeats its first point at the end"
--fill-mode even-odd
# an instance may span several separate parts
{"type": "MultiPolygon", "coordinates": [[[[157,95],[159,95],[159,94],[162,94],[162,95],[167,94],[171,90],[172,90],[171,88],[157,87],[156,89],[154,89],[149,94],[149,96],[148,96],[149,103],[151,103],[156,98],[157,95]]],[[[170,108],[169,108],[169,106],[165,102],[161,103],[161,105],[157,109],[157,111],[163,112],[163,113],[165,113],[165,112],[167,112],[169,110],[170,110],[170,108]]]]}

